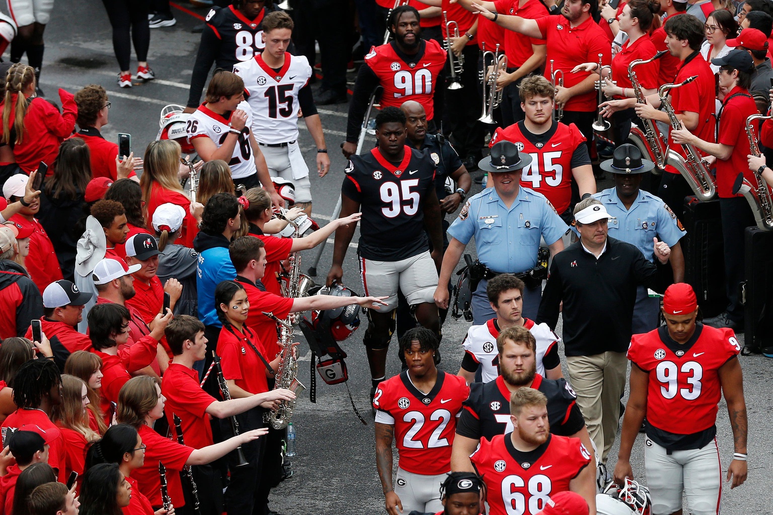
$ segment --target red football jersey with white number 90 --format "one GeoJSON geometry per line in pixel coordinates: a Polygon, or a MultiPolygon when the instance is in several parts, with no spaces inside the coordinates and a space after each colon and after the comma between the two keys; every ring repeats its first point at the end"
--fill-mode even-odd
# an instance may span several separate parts
{"type": "Polygon", "coordinates": [[[438,75],[445,65],[445,56],[445,50],[434,39],[426,42],[424,54],[416,56],[414,63],[406,63],[398,56],[392,43],[373,46],[365,56],[365,63],[384,89],[381,106],[399,108],[406,100],[416,100],[427,112],[427,120],[433,120],[432,96],[438,84],[438,75]]]}

